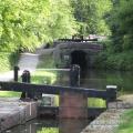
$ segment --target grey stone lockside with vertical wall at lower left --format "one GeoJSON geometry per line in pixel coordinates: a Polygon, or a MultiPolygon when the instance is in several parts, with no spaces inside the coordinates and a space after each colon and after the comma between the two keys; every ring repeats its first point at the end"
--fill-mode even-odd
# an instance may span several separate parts
{"type": "Polygon", "coordinates": [[[16,98],[0,98],[0,133],[37,117],[37,102],[22,102],[16,98]]]}

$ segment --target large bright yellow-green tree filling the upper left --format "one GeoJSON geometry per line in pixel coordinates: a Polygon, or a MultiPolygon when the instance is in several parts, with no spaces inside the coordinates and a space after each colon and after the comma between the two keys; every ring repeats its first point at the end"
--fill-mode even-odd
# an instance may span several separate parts
{"type": "Polygon", "coordinates": [[[69,0],[0,0],[0,50],[34,50],[75,29],[69,0]]]}

